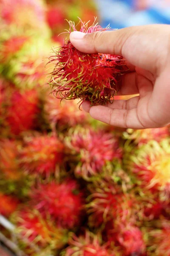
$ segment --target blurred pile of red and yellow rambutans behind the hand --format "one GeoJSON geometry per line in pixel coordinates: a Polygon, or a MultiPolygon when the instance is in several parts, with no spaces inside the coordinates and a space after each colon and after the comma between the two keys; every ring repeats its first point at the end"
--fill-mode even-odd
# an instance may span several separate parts
{"type": "Polygon", "coordinates": [[[49,51],[77,16],[94,3],[0,0],[0,239],[21,256],[170,256],[169,128],[120,130],[50,94],[49,51]]]}

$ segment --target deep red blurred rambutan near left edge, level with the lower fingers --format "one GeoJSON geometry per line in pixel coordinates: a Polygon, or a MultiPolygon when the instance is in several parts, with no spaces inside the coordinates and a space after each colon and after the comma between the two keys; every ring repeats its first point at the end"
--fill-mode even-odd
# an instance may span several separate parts
{"type": "Polygon", "coordinates": [[[7,109],[7,122],[12,134],[19,135],[35,127],[37,114],[40,112],[38,104],[38,93],[34,89],[24,93],[16,90],[12,93],[7,109]]]}

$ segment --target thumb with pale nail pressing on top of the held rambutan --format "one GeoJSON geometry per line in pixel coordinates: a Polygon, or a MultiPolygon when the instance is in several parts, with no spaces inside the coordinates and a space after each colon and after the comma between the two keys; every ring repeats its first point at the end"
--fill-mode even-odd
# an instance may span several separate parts
{"type": "Polygon", "coordinates": [[[122,55],[131,64],[156,73],[167,59],[169,36],[169,25],[147,25],[88,34],[74,31],[70,41],[81,52],[122,55]]]}

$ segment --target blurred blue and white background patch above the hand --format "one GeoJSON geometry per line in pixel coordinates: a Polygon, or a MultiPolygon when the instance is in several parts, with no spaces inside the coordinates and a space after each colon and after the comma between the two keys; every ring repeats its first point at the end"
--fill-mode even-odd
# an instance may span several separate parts
{"type": "Polygon", "coordinates": [[[170,24],[168,0],[148,0],[148,6],[144,10],[136,9],[135,0],[96,0],[96,2],[99,6],[102,27],[110,24],[111,28],[120,29],[154,23],[170,24]]]}

